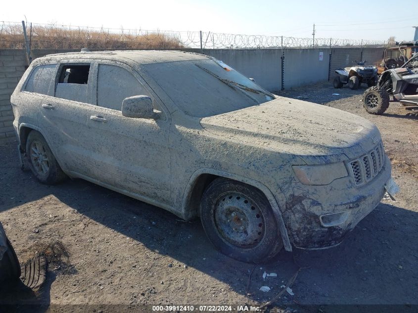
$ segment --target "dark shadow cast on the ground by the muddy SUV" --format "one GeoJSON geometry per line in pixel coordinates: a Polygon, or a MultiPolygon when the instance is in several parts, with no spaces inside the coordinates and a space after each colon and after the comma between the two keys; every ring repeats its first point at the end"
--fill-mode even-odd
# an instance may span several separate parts
{"type": "MultiPolygon", "coordinates": [[[[294,296],[285,293],[278,304],[417,302],[418,213],[410,210],[381,203],[341,245],[319,251],[281,251],[273,262],[255,266],[216,251],[198,220],[182,221],[163,209],[81,179],[56,186],[42,185],[29,172],[20,171],[14,162],[7,171],[1,169],[3,178],[6,172],[18,178],[20,189],[31,192],[20,193],[13,184],[3,185],[1,194],[5,200],[0,203],[0,212],[53,195],[64,205],[154,253],[210,275],[259,303],[277,295],[280,286],[286,285],[299,268],[302,269],[291,287],[294,296]],[[263,278],[264,272],[275,273],[277,277],[263,278]],[[271,291],[260,291],[262,286],[271,291]]],[[[43,301],[49,303],[49,296],[43,301]]]]}

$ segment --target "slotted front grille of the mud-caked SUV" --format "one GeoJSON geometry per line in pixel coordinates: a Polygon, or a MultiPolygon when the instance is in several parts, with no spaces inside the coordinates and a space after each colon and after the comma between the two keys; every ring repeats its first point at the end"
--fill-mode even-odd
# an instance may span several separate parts
{"type": "Polygon", "coordinates": [[[380,142],[372,151],[349,162],[356,186],[371,181],[383,167],[384,150],[380,142]]]}

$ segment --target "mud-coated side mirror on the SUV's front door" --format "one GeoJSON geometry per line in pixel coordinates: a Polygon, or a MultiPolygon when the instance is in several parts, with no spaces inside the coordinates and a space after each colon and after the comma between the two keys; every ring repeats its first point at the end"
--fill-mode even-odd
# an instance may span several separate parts
{"type": "Polygon", "coordinates": [[[157,119],[159,113],[154,112],[152,99],[147,95],[134,95],[123,99],[122,115],[137,119],[157,119]]]}

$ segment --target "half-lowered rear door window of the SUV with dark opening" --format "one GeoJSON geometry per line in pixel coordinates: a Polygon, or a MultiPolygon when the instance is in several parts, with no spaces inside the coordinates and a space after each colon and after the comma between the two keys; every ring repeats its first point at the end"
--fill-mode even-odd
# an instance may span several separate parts
{"type": "Polygon", "coordinates": [[[90,64],[62,66],[58,73],[55,96],[88,103],[89,74],[90,64]]]}

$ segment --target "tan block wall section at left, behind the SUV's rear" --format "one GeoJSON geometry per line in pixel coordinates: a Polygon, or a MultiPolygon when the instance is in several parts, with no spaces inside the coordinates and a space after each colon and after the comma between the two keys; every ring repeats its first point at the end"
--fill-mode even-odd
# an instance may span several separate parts
{"type": "Polygon", "coordinates": [[[10,95],[27,67],[23,49],[0,50],[0,141],[15,137],[10,95]]]}

